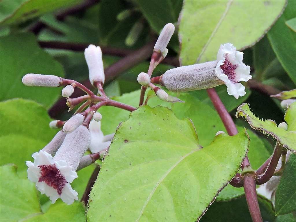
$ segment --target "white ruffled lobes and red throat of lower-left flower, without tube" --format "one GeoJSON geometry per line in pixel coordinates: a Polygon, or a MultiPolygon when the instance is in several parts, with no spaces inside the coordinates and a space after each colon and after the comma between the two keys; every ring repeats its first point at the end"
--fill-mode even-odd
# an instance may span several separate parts
{"type": "Polygon", "coordinates": [[[35,182],[41,194],[46,194],[52,203],[60,197],[65,203],[78,200],[78,193],[70,183],[77,178],[77,173],[64,160],[54,161],[52,155],[40,150],[33,153],[34,163],[27,161],[28,178],[35,182]]]}

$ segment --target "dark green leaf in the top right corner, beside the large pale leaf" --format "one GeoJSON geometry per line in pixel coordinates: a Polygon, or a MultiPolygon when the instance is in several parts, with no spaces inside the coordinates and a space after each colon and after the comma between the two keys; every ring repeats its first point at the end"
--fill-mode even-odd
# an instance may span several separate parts
{"type": "Polygon", "coordinates": [[[296,33],[285,25],[287,20],[294,17],[296,17],[296,1],[289,0],[283,15],[269,30],[267,36],[276,57],[296,84],[296,33]]]}

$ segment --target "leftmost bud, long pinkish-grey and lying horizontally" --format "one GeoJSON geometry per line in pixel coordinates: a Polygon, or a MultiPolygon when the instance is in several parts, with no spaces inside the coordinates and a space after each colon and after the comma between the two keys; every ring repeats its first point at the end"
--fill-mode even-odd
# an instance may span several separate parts
{"type": "Polygon", "coordinates": [[[56,75],[29,73],[22,78],[22,83],[26,86],[59,87],[62,83],[62,78],[56,75]]]}

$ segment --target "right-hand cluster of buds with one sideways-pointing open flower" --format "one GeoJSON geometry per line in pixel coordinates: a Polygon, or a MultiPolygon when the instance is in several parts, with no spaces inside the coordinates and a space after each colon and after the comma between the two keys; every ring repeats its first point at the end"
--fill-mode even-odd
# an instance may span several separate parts
{"type": "Polygon", "coordinates": [[[165,47],[173,34],[174,29],[171,28],[172,25],[169,23],[163,28],[155,44],[148,74],[139,74],[138,82],[141,85],[151,87],[160,99],[170,102],[176,102],[176,99],[168,99],[168,96],[163,96],[163,92],[161,94],[157,93],[161,89],[152,83],[165,86],[173,92],[208,89],[225,84],[228,94],[233,95],[236,99],[246,94],[245,87],[239,82],[248,81],[252,78],[250,75],[250,66],[242,62],[243,53],[236,51],[236,48],[230,43],[220,46],[217,60],[215,61],[177,67],[167,70],[160,77],[150,79],[149,77],[151,77],[153,69],[163,60],[168,52],[165,47]]]}

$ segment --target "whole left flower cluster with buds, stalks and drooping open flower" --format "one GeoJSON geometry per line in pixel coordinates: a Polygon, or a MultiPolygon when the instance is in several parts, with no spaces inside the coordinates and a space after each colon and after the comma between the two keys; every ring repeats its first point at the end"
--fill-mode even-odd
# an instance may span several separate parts
{"type": "Polygon", "coordinates": [[[85,58],[89,67],[89,79],[98,89],[100,96],[76,81],[54,75],[30,73],[22,78],[26,86],[65,86],[62,96],[67,98],[70,109],[86,101],[68,121],[54,120],[49,124],[51,128],[62,128],[62,130],[43,149],[33,153],[34,163],[26,162],[29,180],[35,182],[38,190],[46,194],[52,203],[58,198],[68,205],[78,200],[78,193],[70,185],[77,178],[76,171],[102,158],[114,136],[114,134],[103,135],[100,123],[102,115],[96,111],[106,104],[123,106],[108,99],[104,94],[102,86],[105,76],[100,47],[90,45],[85,49],[85,58]],[[75,87],[82,89],[87,95],[69,98],[75,87]],[[84,156],[87,149],[92,154],[84,156]]]}

